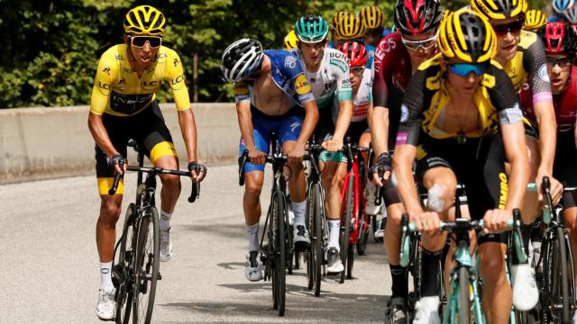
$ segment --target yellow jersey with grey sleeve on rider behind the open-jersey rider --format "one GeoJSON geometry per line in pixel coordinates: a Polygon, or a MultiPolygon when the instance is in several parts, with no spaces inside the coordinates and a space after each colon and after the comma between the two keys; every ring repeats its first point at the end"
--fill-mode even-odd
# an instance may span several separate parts
{"type": "Polygon", "coordinates": [[[535,32],[521,31],[517,53],[503,68],[513,82],[515,91],[520,91],[523,83],[528,80],[534,103],[551,100],[545,49],[535,32]]]}

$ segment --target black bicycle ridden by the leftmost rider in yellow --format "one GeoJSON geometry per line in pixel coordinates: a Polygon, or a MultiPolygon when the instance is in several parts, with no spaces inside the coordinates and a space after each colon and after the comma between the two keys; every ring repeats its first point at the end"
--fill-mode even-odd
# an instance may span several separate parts
{"type": "MultiPolygon", "coordinates": [[[[156,209],[156,176],[190,176],[188,171],[143,167],[144,154],[135,140],[128,146],[138,153],[138,166],[128,166],[128,171],[138,172],[136,201],[128,205],[124,216],[123,234],[114,247],[112,279],[116,292],[116,323],[127,324],[133,314],[133,323],[150,323],[154,308],[157,281],[160,275],[160,229],[159,214],[156,209]],[[142,182],[142,174],[146,180],[142,182]],[[120,247],[120,250],[118,248],[120,247]],[[118,252],[118,262],[116,260],[118,252]]],[[[121,169],[124,167],[120,165],[121,169]]],[[[114,183],[108,194],[116,193],[122,174],[114,176],[114,183]]],[[[193,182],[188,202],[199,197],[200,184],[193,182]]]]}

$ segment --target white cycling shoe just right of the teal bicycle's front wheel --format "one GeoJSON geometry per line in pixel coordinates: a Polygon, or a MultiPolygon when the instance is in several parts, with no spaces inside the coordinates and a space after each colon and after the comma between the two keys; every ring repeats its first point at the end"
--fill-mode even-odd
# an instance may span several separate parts
{"type": "Polygon", "coordinates": [[[517,311],[532,310],[539,302],[539,291],[533,268],[526,265],[511,266],[513,278],[513,305],[517,311]]]}

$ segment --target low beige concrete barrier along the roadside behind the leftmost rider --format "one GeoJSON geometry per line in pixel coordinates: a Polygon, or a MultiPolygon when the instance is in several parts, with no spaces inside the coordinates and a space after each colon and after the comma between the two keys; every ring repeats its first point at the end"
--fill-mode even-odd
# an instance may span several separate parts
{"type": "MultiPolygon", "coordinates": [[[[179,157],[186,148],[174,104],[160,105],[179,157]]],[[[197,152],[205,163],[232,162],[240,130],[233,103],[193,103],[197,152]]],[[[0,110],[0,184],[47,177],[94,174],[94,139],[88,106],[0,110]]],[[[135,163],[134,155],[129,161],[135,163]]]]}

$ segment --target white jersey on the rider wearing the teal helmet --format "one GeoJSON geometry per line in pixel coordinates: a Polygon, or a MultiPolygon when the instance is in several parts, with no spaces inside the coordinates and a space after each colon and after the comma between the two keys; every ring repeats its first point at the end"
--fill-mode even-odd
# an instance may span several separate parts
{"type": "Polygon", "coordinates": [[[292,51],[297,55],[298,61],[305,71],[305,76],[307,76],[319,109],[328,108],[333,102],[333,97],[340,102],[353,100],[349,63],[340,50],[325,48],[321,66],[316,72],[307,71],[305,59],[300,49],[296,48],[292,51]]]}

